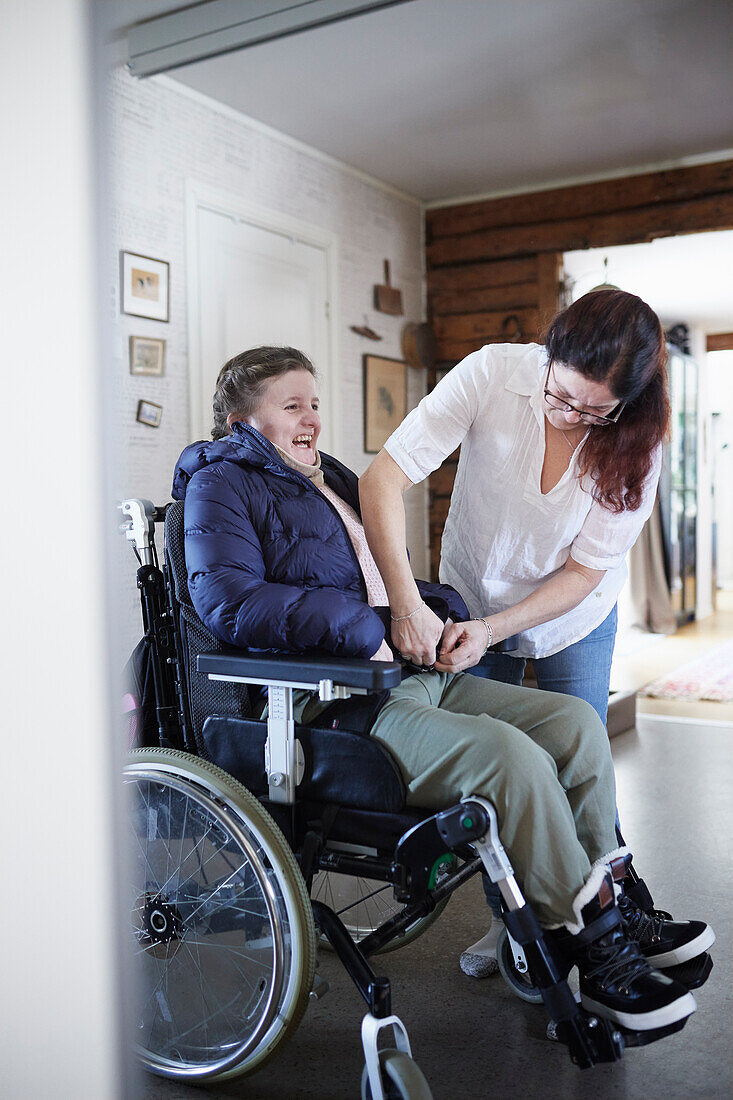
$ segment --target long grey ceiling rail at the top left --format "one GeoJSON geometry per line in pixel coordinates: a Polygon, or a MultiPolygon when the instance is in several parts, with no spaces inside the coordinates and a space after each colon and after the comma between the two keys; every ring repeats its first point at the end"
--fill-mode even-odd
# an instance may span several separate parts
{"type": "Polygon", "coordinates": [[[128,68],[153,76],[409,0],[207,0],[135,23],[128,68]]]}

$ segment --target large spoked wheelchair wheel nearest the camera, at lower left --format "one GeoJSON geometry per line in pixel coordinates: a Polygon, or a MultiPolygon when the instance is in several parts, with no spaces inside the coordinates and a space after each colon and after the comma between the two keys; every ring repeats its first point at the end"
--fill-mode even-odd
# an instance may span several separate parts
{"type": "Polygon", "coordinates": [[[316,932],[293,853],[256,799],[198,757],[142,749],[124,781],[140,1058],[187,1080],[252,1072],[313,987],[316,932]]]}

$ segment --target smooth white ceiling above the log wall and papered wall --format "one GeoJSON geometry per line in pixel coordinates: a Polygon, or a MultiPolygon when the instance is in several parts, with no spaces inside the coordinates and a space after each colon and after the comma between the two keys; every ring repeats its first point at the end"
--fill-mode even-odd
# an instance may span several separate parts
{"type": "Polygon", "coordinates": [[[171,75],[435,201],[730,148],[732,47],[731,0],[411,0],[171,75]]]}

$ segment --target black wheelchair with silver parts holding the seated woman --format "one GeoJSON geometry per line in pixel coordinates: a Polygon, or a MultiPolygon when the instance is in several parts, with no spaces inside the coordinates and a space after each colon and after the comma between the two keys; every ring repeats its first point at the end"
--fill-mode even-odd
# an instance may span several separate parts
{"type": "Polygon", "coordinates": [[[682,1026],[630,1032],[576,1002],[489,802],[407,807],[376,741],[329,724],[328,707],[317,725],[295,724],[294,691],[368,701],[400,682],[396,662],[223,646],[188,593],[183,503],[129,499],[120,509],[140,562],[154,697],[153,734],[124,768],[134,1034],[147,1070],[206,1084],[261,1068],[325,992],[316,955],[328,946],[366,1005],[362,1100],[427,1100],[390,981],[371,960],[419,936],[481,871],[502,894],[502,974],[524,1000],[544,1001],[579,1067],[682,1026]]]}

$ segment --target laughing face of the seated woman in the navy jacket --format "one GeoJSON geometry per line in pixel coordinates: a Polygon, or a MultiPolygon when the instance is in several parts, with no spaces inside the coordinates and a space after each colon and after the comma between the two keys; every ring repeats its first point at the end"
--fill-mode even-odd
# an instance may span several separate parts
{"type": "Polygon", "coordinates": [[[287,371],[272,378],[245,420],[286,454],[315,465],[320,416],[316,381],[309,371],[287,371]]]}

